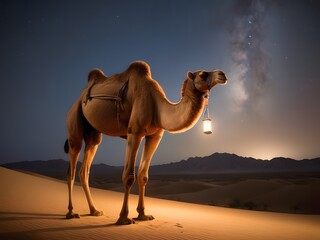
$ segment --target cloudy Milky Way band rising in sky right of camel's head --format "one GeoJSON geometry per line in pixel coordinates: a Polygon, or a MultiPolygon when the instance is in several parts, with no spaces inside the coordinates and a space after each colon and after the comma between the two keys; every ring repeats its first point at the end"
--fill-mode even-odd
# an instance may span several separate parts
{"type": "Polygon", "coordinates": [[[268,1],[238,1],[230,25],[231,85],[235,111],[257,112],[268,82],[268,55],[264,50],[268,1]]]}

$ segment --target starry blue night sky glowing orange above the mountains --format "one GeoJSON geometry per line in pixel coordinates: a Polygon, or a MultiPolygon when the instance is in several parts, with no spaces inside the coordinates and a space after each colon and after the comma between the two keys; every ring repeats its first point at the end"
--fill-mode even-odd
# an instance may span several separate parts
{"type": "MultiPolygon", "coordinates": [[[[187,71],[222,69],[213,134],[201,121],[165,133],[152,164],[214,152],[320,156],[320,1],[0,1],[0,163],[63,158],[66,114],[88,72],[135,60],[168,99],[187,71]]],[[[95,163],[122,165],[125,141],[103,137],[95,163]]]]}

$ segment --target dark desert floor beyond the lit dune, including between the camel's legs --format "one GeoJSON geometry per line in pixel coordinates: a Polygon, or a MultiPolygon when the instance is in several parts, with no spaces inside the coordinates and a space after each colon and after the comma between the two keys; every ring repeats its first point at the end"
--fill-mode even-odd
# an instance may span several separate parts
{"type": "MultiPolygon", "coordinates": [[[[119,174],[120,178],[120,174],[119,174]]],[[[93,175],[91,184],[122,192],[122,184],[107,175],[93,175]]],[[[150,175],[149,197],[238,209],[320,215],[320,175],[316,173],[256,173],[220,175],[150,175]]],[[[132,193],[138,194],[134,185],[132,193]]]]}

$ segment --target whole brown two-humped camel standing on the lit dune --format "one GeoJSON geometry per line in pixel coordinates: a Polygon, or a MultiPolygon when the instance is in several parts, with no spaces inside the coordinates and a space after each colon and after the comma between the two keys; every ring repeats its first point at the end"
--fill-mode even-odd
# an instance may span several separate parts
{"type": "Polygon", "coordinates": [[[151,77],[150,67],[142,61],[133,62],[127,70],[107,77],[99,69],[89,73],[88,86],[67,114],[65,152],[70,165],[67,176],[69,205],[66,218],[79,218],[73,212],[72,189],[76,165],[85,142],[79,178],[92,216],[103,215],[97,210],[89,189],[89,172],[102,133],[126,139],[125,164],[122,174],[124,200],[116,224],[152,220],[145,214],[144,195],[149,179],[150,161],[164,131],[181,133],[192,128],[200,118],[211,88],[225,84],[227,78],[220,70],[188,72],[181,89],[181,100],[171,103],[158,82],[151,77]],[[135,163],[140,143],[145,139],[137,180],[139,184],[138,217],[128,218],[128,198],[136,180],[135,163]]]}

